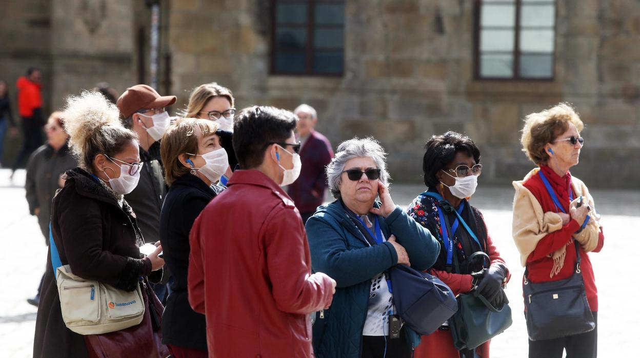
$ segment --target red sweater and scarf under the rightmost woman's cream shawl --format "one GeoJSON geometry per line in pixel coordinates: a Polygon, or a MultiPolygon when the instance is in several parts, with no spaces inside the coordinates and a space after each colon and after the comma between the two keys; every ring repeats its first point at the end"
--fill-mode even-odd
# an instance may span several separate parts
{"type": "MultiPolygon", "coordinates": [[[[552,188],[554,188],[554,190],[556,191],[558,200],[564,206],[564,211],[566,211],[566,213],[569,213],[569,186],[571,183],[571,174],[567,173],[566,175],[564,175],[564,177],[560,177],[556,174],[556,172],[544,165],[541,166],[540,170],[543,170],[552,188]]],[[[527,181],[524,182],[523,185],[525,188],[527,188],[527,190],[531,191],[536,199],[538,199],[538,202],[540,203],[540,206],[542,206],[543,211],[562,212],[561,210],[556,209],[556,205],[551,199],[551,196],[548,194],[547,188],[540,178],[540,175],[532,175],[531,177],[529,177],[529,179],[527,179],[527,181]]],[[[527,257],[529,281],[556,281],[566,279],[573,274],[573,269],[575,268],[575,261],[577,257],[575,256],[575,248],[573,247],[572,235],[574,232],[580,229],[580,224],[572,219],[568,224],[564,225],[562,229],[554,231],[542,238],[542,240],[538,241],[538,245],[536,245],[536,248],[533,250],[533,252],[531,252],[531,254],[529,254],[529,257],[527,257]],[[552,257],[550,257],[550,255],[563,246],[566,246],[566,257],[564,258],[564,266],[557,275],[554,275],[554,277],[549,277],[549,273],[554,266],[554,260],[552,259],[552,257]]],[[[600,252],[603,245],[604,234],[602,234],[601,227],[600,236],[598,238],[598,246],[595,248],[595,250],[593,250],[593,252],[600,252]]],[[[580,257],[582,258],[582,261],[580,261],[580,268],[582,269],[582,279],[584,279],[584,288],[586,289],[589,307],[591,308],[591,311],[597,312],[598,289],[596,288],[595,276],[593,275],[593,267],[591,266],[589,255],[584,252],[582,247],[580,247],[579,252],[580,257]]]]}

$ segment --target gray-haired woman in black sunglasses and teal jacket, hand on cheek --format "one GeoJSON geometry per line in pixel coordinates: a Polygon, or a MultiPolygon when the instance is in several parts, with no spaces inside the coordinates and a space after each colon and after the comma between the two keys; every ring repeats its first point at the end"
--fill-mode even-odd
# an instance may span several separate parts
{"type": "Polygon", "coordinates": [[[319,206],[306,229],[315,272],[337,282],[333,303],[314,324],[316,357],[411,357],[417,334],[395,321],[388,270],[407,264],[429,268],[440,245],[394,204],[384,149],[372,138],[340,143],[326,168],[335,201],[319,206]],[[376,197],[380,201],[376,201],[376,197]]]}

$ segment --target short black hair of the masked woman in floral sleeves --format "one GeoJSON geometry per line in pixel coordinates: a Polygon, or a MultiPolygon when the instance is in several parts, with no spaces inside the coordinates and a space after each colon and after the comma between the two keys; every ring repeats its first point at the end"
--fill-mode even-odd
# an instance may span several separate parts
{"type": "Polygon", "coordinates": [[[468,136],[454,131],[432,136],[424,145],[424,150],[422,172],[424,172],[424,184],[429,188],[435,188],[438,185],[436,173],[446,168],[456,158],[458,152],[465,152],[473,157],[476,163],[480,163],[480,149],[476,143],[468,136]]]}

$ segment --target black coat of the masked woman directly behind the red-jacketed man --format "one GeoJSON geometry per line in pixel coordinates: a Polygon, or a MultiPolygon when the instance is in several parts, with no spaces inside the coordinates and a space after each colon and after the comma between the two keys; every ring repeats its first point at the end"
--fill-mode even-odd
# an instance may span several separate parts
{"type": "Polygon", "coordinates": [[[207,186],[195,175],[185,174],[173,182],[160,215],[160,241],[164,262],[172,273],[173,292],[166,300],[162,329],[165,345],[207,350],[207,323],[204,314],[189,305],[189,232],[200,211],[222,189],[207,186]]]}

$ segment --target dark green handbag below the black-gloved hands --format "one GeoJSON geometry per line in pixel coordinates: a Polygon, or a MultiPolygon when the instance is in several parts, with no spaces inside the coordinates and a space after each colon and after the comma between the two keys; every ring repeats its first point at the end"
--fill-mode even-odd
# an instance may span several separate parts
{"type": "Polygon", "coordinates": [[[453,344],[458,350],[474,349],[511,326],[511,307],[500,309],[482,295],[458,295],[458,312],[449,319],[453,344]]]}

